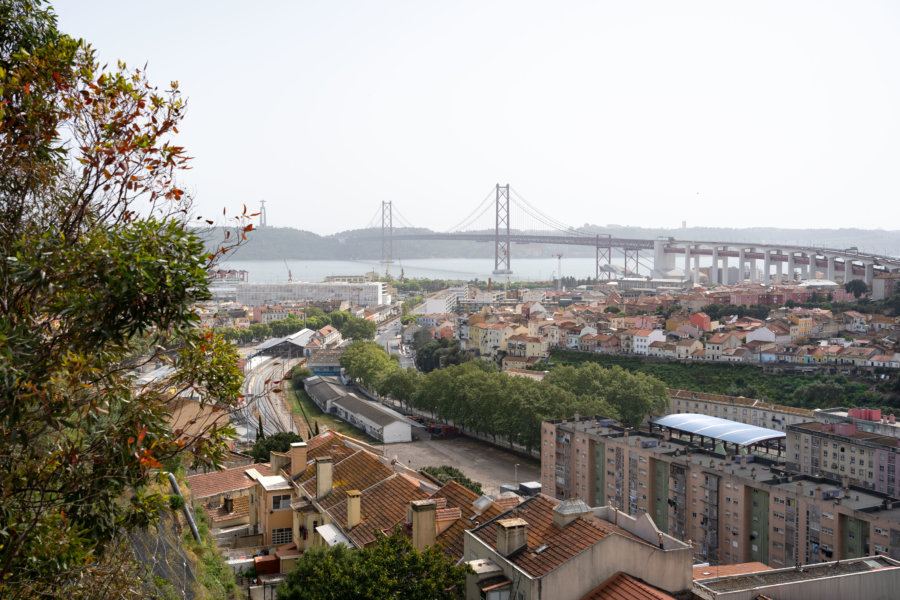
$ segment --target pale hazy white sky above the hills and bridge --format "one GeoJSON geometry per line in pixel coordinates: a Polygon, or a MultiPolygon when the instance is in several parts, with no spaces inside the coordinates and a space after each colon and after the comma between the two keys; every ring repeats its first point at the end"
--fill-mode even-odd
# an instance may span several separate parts
{"type": "Polygon", "coordinates": [[[444,230],[509,183],[575,226],[900,229],[895,0],[53,4],[180,82],[204,215],[444,230]]]}

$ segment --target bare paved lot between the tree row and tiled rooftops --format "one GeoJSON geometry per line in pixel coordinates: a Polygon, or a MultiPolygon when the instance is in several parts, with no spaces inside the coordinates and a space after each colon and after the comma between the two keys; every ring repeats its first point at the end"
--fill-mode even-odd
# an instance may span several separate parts
{"type": "Polygon", "coordinates": [[[456,467],[480,483],[487,494],[499,493],[501,485],[514,484],[516,477],[519,482],[541,479],[540,469],[524,464],[520,456],[464,437],[388,444],[384,453],[413,469],[456,467]]]}

